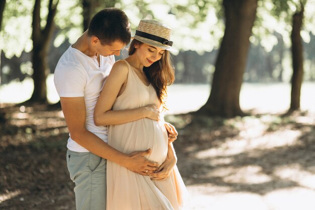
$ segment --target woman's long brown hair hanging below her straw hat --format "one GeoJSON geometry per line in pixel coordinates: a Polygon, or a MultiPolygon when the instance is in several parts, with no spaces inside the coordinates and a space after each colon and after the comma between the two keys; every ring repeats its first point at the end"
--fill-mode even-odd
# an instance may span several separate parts
{"type": "MultiPolygon", "coordinates": [[[[129,55],[135,52],[135,46],[140,46],[142,42],[133,39],[129,47],[129,55]]],[[[155,61],[148,67],[143,67],[143,72],[155,89],[157,98],[161,102],[163,108],[168,109],[166,106],[167,99],[167,86],[175,81],[174,65],[172,64],[170,52],[165,50],[160,60],[155,61]]]]}

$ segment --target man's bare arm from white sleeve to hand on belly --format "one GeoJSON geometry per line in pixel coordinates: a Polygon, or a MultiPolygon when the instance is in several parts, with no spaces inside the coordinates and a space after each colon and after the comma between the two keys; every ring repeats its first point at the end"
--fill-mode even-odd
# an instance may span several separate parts
{"type": "Polygon", "coordinates": [[[157,163],[145,159],[143,156],[151,151],[133,152],[129,155],[121,153],[106,144],[101,138],[86,129],[86,105],[84,97],[60,97],[60,103],[71,138],[91,153],[109,161],[113,161],[130,171],[147,175],[146,170],[157,170],[157,163]]]}

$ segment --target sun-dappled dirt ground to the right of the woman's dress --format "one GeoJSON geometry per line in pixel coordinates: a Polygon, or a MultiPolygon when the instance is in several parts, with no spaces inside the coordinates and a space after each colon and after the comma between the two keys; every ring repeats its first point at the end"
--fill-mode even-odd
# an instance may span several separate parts
{"type": "Polygon", "coordinates": [[[185,209],[315,209],[314,119],[192,119],[176,143],[185,209]]]}

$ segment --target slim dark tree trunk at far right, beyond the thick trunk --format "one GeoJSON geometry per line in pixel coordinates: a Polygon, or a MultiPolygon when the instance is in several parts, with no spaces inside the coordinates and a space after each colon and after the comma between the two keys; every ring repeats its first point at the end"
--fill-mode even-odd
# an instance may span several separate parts
{"type": "Polygon", "coordinates": [[[301,85],[303,80],[303,46],[301,40],[301,27],[303,22],[303,11],[302,7],[300,12],[293,15],[292,21],[292,64],[293,64],[293,75],[291,79],[291,104],[288,112],[299,110],[300,108],[300,94],[301,85]]]}

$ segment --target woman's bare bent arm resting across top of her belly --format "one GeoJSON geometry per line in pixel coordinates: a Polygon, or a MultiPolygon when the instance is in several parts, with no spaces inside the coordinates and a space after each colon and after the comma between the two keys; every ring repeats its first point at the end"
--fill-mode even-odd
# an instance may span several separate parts
{"type": "Polygon", "coordinates": [[[111,110],[116,98],[122,94],[128,77],[128,66],[117,61],[109,74],[94,110],[95,125],[115,125],[148,117],[158,120],[160,111],[156,105],[128,110],[111,110]]]}

